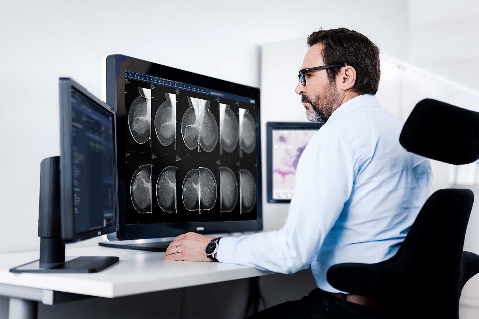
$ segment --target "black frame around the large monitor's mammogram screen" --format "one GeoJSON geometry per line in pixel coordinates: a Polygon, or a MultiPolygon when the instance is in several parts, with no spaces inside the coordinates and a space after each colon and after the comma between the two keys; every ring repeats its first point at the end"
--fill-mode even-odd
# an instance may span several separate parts
{"type": "Polygon", "coordinates": [[[118,127],[116,138],[118,144],[118,154],[125,154],[125,146],[124,143],[122,143],[122,141],[125,139],[123,128],[125,127],[126,115],[125,69],[151,76],[165,77],[174,81],[201,85],[205,88],[214,88],[221,92],[231,93],[255,100],[257,219],[168,224],[126,224],[126,185],[128,183],[126,183],[125,163],[124,161],[118,161],[118,211],[120,229],[116,232],[116,239],[131,240],[174,237],[188,231],[194,231],[203,234],[262,231],[260,89],[228,82],[226,80],[221,80],[214,77],[207,77],[170,66],[163,66],[125,55],[108,55],[106,57],[106,103],[116,110],[116,122],[118,127]]]}

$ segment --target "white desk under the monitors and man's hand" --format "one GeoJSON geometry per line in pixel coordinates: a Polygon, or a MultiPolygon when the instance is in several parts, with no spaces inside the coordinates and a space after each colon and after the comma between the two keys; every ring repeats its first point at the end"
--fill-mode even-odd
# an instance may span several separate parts
{"type": "Polygon", "coordinates": [[[56,292],[114,298],[273,274],[234,264],[166,261],[164,253],[100,246],[67,249],[65,255],[118,256],[120,262],[94,274],[13,274],[10,268],[38,259],[39,252],[3,253],[0,295],[53,305],[62,299],[56,292]]]}

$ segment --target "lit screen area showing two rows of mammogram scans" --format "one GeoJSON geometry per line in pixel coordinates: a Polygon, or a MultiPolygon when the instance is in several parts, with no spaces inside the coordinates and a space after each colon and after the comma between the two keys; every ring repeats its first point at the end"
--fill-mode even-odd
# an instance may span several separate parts
{"type": "Polygon", "coordinates": [[[127,224],[256,220],[255,100],[198,84],[125,70],[127,224]]]}

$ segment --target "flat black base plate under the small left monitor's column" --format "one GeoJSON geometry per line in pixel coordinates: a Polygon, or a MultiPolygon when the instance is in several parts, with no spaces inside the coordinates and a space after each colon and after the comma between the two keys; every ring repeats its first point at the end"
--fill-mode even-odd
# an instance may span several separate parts
{"type": "Polygon", "coordinates": [[[63,263],[40,264],[40,259],[10,269],[11,273],[98,273],[120,261],[119,257],[65,257],[63,263]]]}

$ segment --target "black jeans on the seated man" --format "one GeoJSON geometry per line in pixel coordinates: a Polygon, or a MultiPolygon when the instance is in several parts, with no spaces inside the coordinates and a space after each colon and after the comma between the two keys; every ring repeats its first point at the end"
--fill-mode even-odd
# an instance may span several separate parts
{"type": "Polygon", "coordinates": [[[388,318],[384,310],[361,306],[331,296],[319,288],[308,297],[264,309],[248,318],[388,318]]]}

